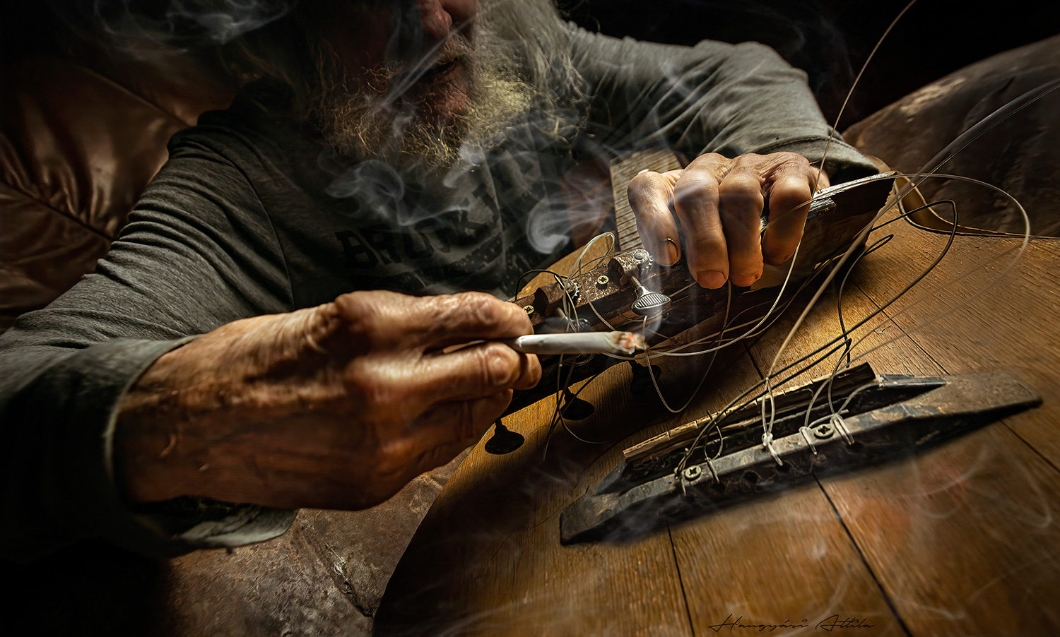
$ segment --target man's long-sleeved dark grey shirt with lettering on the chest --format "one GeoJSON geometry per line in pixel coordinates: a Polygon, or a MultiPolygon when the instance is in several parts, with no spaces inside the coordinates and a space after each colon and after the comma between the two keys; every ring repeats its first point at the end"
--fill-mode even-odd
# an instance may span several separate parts
{"type": "MultiPolygon", "coordinates": [[[[588,101],[535,113],[429,184],[336,160],[261,87],[176,135],[95,271],[0,337],[4,556],[92,536],[175,554],[287,528],[289,511],[190,498],[134,509],[116,489],[121,396],[195,335],[355,289],[507,296],[569,248],[559,177],[581,160],[660,143],[820,159],[830,128],[805,75],[762,46],[570,38],[588,101]]],[[[828,156],[833,175],[874,172],[838,139],[828,156]]]]}

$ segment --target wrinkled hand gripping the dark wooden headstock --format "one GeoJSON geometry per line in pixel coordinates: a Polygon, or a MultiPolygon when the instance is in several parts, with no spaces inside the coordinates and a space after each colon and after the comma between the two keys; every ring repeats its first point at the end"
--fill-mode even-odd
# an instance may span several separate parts
{"type": "Polygon", "coordinates": [[[683,170],[637,175],[630,181],[630,204],[643,244],[659,263],[681,259],[681,219],[696,282],[710,288],[726,280],[747,286],[762,276],[763,258],[777,265],[795,252],[810,197],[829,184],[828,175],[817,173],[794,153],[736,159],[710,153],[683,170]],[[766,204],[770,224],[761,236],[766,204]]]}

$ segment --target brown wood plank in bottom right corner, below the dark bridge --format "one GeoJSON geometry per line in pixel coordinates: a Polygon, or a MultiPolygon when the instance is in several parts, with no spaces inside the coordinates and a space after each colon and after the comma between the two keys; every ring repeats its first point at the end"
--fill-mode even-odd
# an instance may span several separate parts
{"type": "Polygon", "coordinates": [[[1055,635],[1056,472],[1006,427],[823,481],[914,635],[1055,635]]]}

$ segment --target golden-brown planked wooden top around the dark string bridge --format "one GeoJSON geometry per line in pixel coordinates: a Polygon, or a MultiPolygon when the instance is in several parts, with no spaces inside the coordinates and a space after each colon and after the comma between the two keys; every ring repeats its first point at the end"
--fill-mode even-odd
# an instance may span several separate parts
{"type": "MultiPolygon", "coordinates": [[[[884,233],[894,241],[856,266],[843,295],[848,325],[884,305],[947,238],[905,222],[873,240],[884,233]]],[[[1060,634],[1060,244],[1032,240],[987,288],[1019,244],[956,237],[923,282],[853,333],[865,337],[854,355],[867,352],[878,373],[1005,370],[1043,396],[1041,407],[638,539],[562,546],[560,512],[621,449],[757,382],[794,315],[738,346],[681,415],[662,418],[657,400],[632,397],[630,366],[616,366],[582,393],[594,417],[571,427],[625,440],[584,444],[560,431],[543,457],[553,404],[506,419],[526,444],[495,456],[479,443],[457,470],[390,581],[376,634],[1060,634]]],[[[832,289],[781,359],[838,332],[832,289]]],[[[670,397],[679,403],[678,393],[670,397]]]]}

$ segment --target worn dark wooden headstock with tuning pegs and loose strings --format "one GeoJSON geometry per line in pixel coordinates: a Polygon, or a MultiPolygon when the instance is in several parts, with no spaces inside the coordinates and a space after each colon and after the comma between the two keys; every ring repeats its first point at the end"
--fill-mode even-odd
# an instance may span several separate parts
{"type": "MultiPolygon", "coordinates": [[[[717,319],[728,313],[760,317],[766,314],[778,289],[789,293],[828,266],[846,251],[858,234],[871,223],[887,200],[895,179],[893,172],[858,179],[823,191],[810,205],[799,251],[785,264],[766,266],[766,276],[752,288],[730,294],[728,289],[705,289],[690,284],[685,260],[672,267],[654,264],[642,247],[636,216],[626,189],[638,172],[665,172],[681,167],[677,157],[666,148],[629,153],[612,162],[611,183],[615,184],[615,245],[611,250],[590,252],[596,259],[575,250],[552,270],[565,275],[577,265],[591,261],[595,267],[575,268],[569,278],[555,281],[554,275],[540,275],[527,286],[531,294],[514,300],[530,317],[537,333],[585,332],[591,330],[638,330],[649,342],[666,341],[669,347],[687,344],[716,329],[717,319]],[[550,281],[550,278],[552,281],[550,281]],[[790,285],[782,285],[788,279],[790,285]],[[657,291],[649,291],[657,290],[657,291]],[[650,325],[650,332],[646,328],[650,325]]],[[[763,223],[767,223],[767,217],[763,223]]],[[[534,390],[519,392],[509,412],[550,395],[556,382],[568,385],[599,373],[615,359],[597,356],[568,357],[563,367],[558,357],[543,360],[545,374],[534,390]],[[559,378],[558,376],[563,376],[559,378]]],[[[632,362],[632,361],[631,361],[632,362]]],[[[637,366],[634,373],[640,373],[637,366]]],[[[657,372],[657,370],[656,370],[657,372]]],[[[647,373],[647,370],[643,372],[647,373]]],[[[642,376],[643,373],[640,373],[642,376]]]]}

